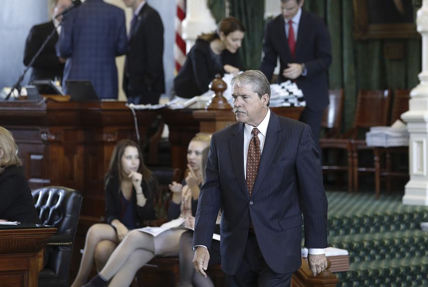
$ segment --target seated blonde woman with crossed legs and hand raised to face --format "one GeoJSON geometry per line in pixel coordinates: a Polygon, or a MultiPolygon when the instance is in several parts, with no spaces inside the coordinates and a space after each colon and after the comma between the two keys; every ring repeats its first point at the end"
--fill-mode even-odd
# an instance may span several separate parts
{"type": "Polygon", "coordinates": [[[193,228],[197,199],[200,192],[201,157],[209,145],[210,136],[197,135],[189,143],[187,162],[189,172],[185,185],[177,182],[170,184],[173,192],[168,211],[169,219],[182,217],[185,222],[182,229],[168,230],[153,237],[137,230],[130,231],[114,250],[104,268],[85,286],[129,286],[135,273],[153,257],[177,256],[181,235],[193,228]]]}

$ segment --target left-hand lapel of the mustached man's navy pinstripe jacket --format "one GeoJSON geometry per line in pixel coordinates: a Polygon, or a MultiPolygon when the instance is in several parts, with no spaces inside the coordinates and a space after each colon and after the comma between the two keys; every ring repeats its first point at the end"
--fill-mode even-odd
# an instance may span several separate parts
{"type": "Polygon", "coordinates": [[[244,124],[239,123],[229,139],[229,150],[232,158],[233,170],[241,191],[249,198],[247,183],[244,176],[244,124]]]}

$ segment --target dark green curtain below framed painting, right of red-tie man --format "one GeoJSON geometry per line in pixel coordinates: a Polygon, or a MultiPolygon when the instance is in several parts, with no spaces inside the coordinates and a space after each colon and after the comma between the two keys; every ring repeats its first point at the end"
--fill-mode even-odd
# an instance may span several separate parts
{"type": "Polygon", "coordinates": [[[412,89],[419,83],[420,40],[354,40],[352,1],[306,1],[303,9],[322,17],[330,31],[329,85],[344,90],[343,130],[352,127],[358,89],[412,89]]]}

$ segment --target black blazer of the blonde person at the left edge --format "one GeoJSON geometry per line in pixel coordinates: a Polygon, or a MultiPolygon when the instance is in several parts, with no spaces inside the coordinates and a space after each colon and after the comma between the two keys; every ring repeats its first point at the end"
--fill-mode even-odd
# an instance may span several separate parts
{"type": "Polygon", "coordinates": [[[40,224],[30,186],[20,166],[0,174],[0,219],[40,224]]]}

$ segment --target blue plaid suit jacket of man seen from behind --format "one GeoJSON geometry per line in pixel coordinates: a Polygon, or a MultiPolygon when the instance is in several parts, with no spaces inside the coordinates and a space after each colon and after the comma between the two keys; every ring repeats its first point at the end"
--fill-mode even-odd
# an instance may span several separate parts
{"type": "Polygon", "coordinates": [[[57,53],[67,58],[66,80],[90,80],[98,98],[117,99],[115,57],[128,48],[125,13],[102,0],[86,0],[63,20],[57,53]]]}

